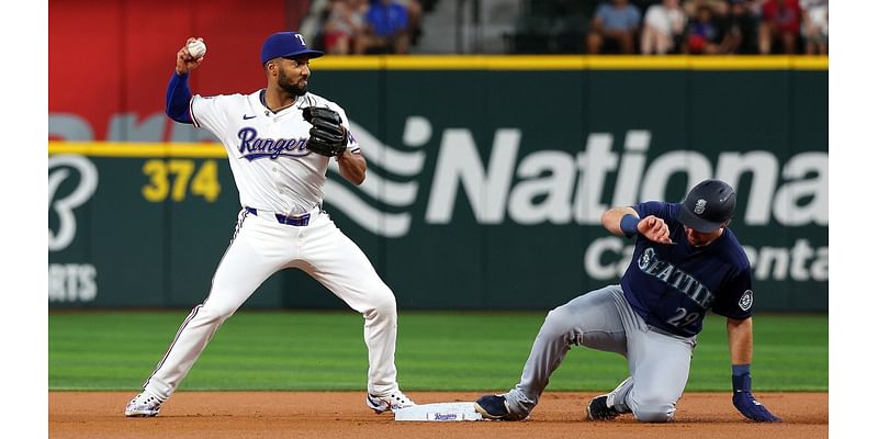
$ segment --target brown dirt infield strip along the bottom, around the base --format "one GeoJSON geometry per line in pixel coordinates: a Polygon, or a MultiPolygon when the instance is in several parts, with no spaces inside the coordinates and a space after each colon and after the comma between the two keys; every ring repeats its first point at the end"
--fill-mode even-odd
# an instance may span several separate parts
{"type": "MultiPolygon", "coordinates": [[[[410,392],[426,403],[473,401],[481,393],[410,392]]],[[[687,393],[671,424],[631,415],[589,423],[592,395],[547,393],[521,423],[396,423],[375,415],[361,392],[178,392],[155,418],[125,418],[130,392],[49,392],[52,438],[828,438],[826,393],[758,394],[783,424],[744,420],[728,393],[687,393]]]]}

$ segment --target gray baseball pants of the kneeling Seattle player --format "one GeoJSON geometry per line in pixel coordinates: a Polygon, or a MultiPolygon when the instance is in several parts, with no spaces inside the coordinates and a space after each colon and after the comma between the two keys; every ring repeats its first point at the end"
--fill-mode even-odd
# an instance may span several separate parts
{"type": "Polygon", "coordinates": [[[632,381],[619,389],[614,407],[640,421],[674,419],[689,376],[696,337],[679,337],[646,325],[620,285],[583,294],[549,312],[533,340],[521,381],[505,396],[513,417],[524,419],[540,399],[549,376],[571,346],[617,352],[628,359],[632,381]]]}

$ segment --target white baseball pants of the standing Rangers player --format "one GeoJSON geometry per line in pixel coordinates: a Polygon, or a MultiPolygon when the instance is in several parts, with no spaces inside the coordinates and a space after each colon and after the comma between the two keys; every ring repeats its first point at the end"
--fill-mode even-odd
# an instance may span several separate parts
{"type": "Polygon", "coordinates": [[[183,320],[144,390],[161,399],[170,397],[223,322],[266,279],[285,268],[304,270],[363,315],[368,391],[374,395],[396,391],[396,299],[362,250],[319,210],[312,212],[307,226],[240,212],[207,299],[183,320]]]}

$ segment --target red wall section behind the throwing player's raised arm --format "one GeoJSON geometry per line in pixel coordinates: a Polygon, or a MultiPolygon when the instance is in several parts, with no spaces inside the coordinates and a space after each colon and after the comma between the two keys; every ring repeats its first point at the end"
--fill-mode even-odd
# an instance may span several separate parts
{"type": "MultiPolygon", "coordinates": [[[[262,41],[286,25],[283,0],[49,1],[49,139],[191,142],[165,116],[165,91],[187,37],[207,44],[193,93],[264,87],[262,41]]],[[[175,126],[180,125],[180,126],[175,126]]]]}

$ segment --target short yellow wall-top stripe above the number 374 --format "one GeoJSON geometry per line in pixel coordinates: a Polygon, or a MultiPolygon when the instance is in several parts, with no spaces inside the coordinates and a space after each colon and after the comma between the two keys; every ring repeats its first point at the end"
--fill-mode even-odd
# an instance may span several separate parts
{"type": "Polygon", "coordinates": [[[226,157],[226,150],[223,145],[211,143],[49,142],[48,154],[134,158],[226,157]]]}

